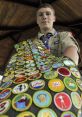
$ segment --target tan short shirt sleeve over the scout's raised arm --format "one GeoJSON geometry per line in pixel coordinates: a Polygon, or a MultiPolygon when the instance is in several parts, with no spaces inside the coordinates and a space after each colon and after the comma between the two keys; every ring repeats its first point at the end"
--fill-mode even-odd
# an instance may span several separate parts
{"type": "Polygon", "coordinates": [[[65,49],[70,46],[75,46],[77,48],[77,52],[80,53],[79,44],[70,32],[61,32],[60,40],[62,43],[62,52],[64,52],[65,49]]]}

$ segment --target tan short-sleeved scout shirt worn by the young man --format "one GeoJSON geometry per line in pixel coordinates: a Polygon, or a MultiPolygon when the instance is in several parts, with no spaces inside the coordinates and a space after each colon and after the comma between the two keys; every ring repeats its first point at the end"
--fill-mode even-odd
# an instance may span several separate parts
{"type": "Polygon", "coordinates": [[[56,56],[62,56],[65,49],[70,46],[75,46],[80,53],[79,45],[70,32],[59,32],[56,36],[52,36],[49,39],[49,46],[51,52],[56,56]]]}

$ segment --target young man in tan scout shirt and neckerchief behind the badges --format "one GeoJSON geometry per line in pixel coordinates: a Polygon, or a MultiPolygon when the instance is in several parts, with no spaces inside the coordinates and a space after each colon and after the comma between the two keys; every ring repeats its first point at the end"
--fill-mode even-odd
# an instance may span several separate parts
{"type": "Polygon", "coordinates": [[[67,56],[76,65],[79,61],[79,45],[69,32],[56,32],[53,24],[56,21],[55,10],[50,4],[42,4],[37,10],[37,24],[40,28],[38,38],[56,56],[67,56]]]}

